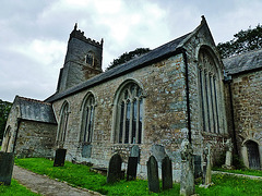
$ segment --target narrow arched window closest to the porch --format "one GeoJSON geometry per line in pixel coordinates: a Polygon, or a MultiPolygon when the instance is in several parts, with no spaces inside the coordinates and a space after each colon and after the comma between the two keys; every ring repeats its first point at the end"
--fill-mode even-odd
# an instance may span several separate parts
{"type": "Polygon", "coordinates": [[[66,101],[61,108],[59,128],[57,134],[57,144],[63,146],[68,128],[69,103],[66,101]]]}

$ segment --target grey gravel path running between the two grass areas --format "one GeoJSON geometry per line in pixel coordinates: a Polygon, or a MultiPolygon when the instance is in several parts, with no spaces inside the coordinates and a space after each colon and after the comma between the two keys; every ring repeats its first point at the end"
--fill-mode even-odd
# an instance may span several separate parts
{"type": "Polygon", "coordinates": [[[33,173],[28,170],[14,166],[13,179],[17,180],[20,184],[26,186],[32,192],[47,195],[47,196],[93,196],[100,195],[84,188],[76,188],[67,183],[51,180],[45,175],[33,173]]]}

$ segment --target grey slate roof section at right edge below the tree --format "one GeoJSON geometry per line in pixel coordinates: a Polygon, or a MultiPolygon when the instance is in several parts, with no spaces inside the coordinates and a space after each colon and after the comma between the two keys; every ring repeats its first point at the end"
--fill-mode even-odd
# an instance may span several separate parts
{"type": "Polygon", "coordinates": [[[229,75],[262,68],[262,49],[223,59],[223,63],[229,75]]]}

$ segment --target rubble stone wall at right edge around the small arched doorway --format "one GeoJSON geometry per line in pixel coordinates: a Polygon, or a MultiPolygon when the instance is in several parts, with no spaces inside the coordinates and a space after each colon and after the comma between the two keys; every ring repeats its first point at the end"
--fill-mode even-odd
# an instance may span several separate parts
{"type": "MultiPolygon", "coordinates": [[[[249,167],[248,155],[257,154],[247,147],[254,142],[262,168],[262,71],[233,75],[231,91],[237,145],[243,162],[249,167]],[[251,150],[251,151],[249,151],[251,150]]],[[[255,149],[254,148],[254,149],[255,149]]]]}

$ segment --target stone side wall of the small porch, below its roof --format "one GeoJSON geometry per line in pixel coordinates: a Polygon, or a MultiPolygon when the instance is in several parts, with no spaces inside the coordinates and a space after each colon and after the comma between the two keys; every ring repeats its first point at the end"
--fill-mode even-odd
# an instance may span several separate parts
{"type": "Polygon", "coordinates": [[[57,125],[21,121],[16,139],[17,157],[53,157],[57,125]]]}

